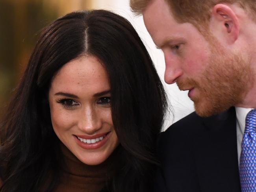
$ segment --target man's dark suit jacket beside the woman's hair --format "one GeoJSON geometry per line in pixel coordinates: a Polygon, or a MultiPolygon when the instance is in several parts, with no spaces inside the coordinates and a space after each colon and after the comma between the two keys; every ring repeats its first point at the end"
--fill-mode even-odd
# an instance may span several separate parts
{"type": "Polygon", "coordinates": [[[236,111],[191,113],[159,138],[157,192],[240,192],[236,111]]]}

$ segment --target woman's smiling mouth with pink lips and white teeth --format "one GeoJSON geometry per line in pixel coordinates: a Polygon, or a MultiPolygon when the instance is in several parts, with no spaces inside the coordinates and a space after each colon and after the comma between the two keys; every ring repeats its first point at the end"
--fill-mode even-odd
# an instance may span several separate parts
{"type": "Polygon", "coordinates": [[[74,135],[76,143],[83,149],[86,150],[94,150],[102,147],[110,137],[111,132],[93,135],[93,136],[85,136],[85,135],[74,135]]]}

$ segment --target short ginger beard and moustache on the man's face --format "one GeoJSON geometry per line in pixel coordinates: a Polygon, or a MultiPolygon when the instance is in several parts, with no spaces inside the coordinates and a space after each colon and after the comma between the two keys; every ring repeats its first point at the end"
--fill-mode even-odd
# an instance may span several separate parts
{"type": "Polygon", "coordinates": [[[254,74],[248,59],[241,55],[228,55],[215,41],[211,43],[211,55],[204,72],[197,78],[177,81],[180,89],[195,88],[197,94],[191,100],[199,116],[221,113],[243,101],[253,85],[254,74]]]}

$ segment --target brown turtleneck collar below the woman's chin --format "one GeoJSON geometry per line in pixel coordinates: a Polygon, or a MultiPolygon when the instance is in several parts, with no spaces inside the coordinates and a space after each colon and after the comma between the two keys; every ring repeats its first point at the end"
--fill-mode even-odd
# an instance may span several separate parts
{"type": "Polygon", "coordinates": [[[61,150],[66,166],[63,167],[63,178],[55,192],[99,192],[106,184],[106,178],[113,174],[108,170],[114,154],[102,164],[91,166],[77,159],[63,144],[61,150]]]}

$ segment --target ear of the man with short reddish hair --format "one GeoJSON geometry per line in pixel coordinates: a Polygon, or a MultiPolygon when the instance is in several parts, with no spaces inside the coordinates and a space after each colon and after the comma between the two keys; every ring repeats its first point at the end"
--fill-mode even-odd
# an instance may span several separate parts
{"type": "Polygon", "coordinates": [[[239,20],[230,6],[217,4],[213,7],[210,30],[215,33],[215,35],[226,38],[228,43],[237,40],[239,35],[239,20]]]}

